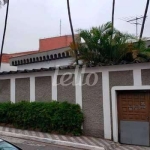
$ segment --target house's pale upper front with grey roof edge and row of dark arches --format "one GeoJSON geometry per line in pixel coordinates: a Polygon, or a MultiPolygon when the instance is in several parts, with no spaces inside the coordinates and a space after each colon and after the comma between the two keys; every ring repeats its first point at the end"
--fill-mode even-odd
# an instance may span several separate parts
{"type": "Polygon", "coordinates": [[[69,47],[64,47],[30,55],[12,57],[9,62],[11,66],[17,66],[18,70],[68,66],[74,63],[74,58],[67,52],[69,49],[69,47]]]}

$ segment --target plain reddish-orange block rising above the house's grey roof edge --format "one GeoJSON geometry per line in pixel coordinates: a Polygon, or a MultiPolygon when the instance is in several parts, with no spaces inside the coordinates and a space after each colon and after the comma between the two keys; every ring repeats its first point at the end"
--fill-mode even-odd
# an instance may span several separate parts
{"type": "Polygon", "coordinates": [[[48,50],[67,47],[70,45],[71,42],[72,42],[71,35],[40,39],[39,51],[48,51],[48,50]]]}

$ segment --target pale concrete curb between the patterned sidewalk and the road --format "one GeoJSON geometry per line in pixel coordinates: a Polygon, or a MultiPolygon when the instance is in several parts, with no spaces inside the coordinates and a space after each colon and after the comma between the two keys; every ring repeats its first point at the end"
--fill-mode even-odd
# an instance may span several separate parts
{"type": "Polygon", "coordinates": [[[37,141],[37,142],[43,142],[43,143],[48,143],[48,144],[60,145],[60,146],[73,147],[73,148],[80,148],[80,149],[87,149],[87,150],[105,150],[103,147],[98,147],[98,146],[73,143],[73,142],[61,141],[61,140],[53,140],[53,139],[48,139],[48,138],[40,138],[36,136],[16,134],[16,133],[5,132],[5,131],[0,131],[0,135],[20,138],[20,139],[25,139],[25,140],[32,140],[32,141],[37,141]]]}

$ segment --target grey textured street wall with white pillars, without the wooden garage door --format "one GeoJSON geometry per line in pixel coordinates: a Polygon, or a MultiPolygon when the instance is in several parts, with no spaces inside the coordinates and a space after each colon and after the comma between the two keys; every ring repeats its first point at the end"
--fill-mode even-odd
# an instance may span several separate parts
{"type": "MultiPolygon", "coordinates": [[[[42,95],[46,95],[46,97],[52,97],[53,100],[68,100],[71,103],[80,104],[85,115],[84,134],[112,139],[112,134],[115,133],[116,136],[113,139],[118,142],[116,138],[118,136],[118,122],[117,106],[114,100],[116,97],[115,92],[118,90],[150,89],[150,63],[80,69],[78,79],[78,71],[70,69],[69,73],[74,74],[70,80],[78,80],[79,84],[75,86],[56,86],[55,83],[59,83],[60,77],[67,72],[68,70],[65,69],[58,71],[58,74],[54,71],[0,74],[0,81],[10,80],[10,100],[12,102],[20,100],[37,101],[41,99],[42,95]],[[84,83],[89,73],[96,73],[98,82],[94,86],[82,86],[82,82],[84,83]],[[81,74],[85,74],[83,81],[80,80],[81,74]],[[50,76],[51,79],[48,78],[50,76]],[[51,89],[50,84],[52,84],[51,89]],[[45,90],[41,91],[39,85],[42,85],[41,88],[45,90]],[[41,93],[38,91],[41,91],[41,93]],[[51,95],[49,91],[51,91],[51,95]],[[113,118],[111,117],[111,112],[113,118]],[[111,119],[113,128],[111,128],[111,119]],[[116,123],[114,123],[114,120],[116,123]]],[[[67,75],[65,75],[66,78],[67,75]]],[[[90,78],[90,83],[92,81],[93,76],[90,78]]]]}

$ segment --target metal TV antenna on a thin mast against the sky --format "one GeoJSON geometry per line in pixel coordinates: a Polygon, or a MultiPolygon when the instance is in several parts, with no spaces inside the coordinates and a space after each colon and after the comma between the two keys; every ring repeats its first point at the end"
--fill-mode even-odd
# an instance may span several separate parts
{"type": "Polygon", "coordinates": [[[140,17],[125,18],[125,19],[121,19],[121,20],[126,21],[130,24],[134,24],[136,26],[136,37],[138,38],[138,26],[142,25],[141,23],[139,23],[139,20],[141,20],[143,18],[144,18],[143,16],[140,16],[140,17]]]}

